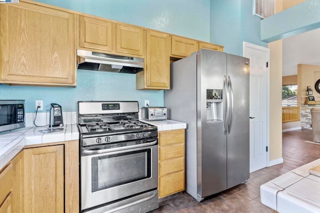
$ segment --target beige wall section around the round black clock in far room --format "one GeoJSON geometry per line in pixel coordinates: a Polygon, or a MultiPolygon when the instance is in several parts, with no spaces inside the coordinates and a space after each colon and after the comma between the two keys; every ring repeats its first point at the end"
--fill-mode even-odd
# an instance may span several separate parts
{"type": "Polygon", "coordinates": [[[320,79],[320,65],[298,64],[297,84],[298,84],[298,105],[307,100],[306,87],[311,86],[312,96],[315,100],[320,100],[320,94],[315,91],[314,84],[320,79]]]}

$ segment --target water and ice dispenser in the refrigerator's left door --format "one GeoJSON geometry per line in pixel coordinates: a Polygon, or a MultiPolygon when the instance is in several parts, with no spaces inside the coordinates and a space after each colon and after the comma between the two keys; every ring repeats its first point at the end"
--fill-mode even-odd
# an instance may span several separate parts
{"type": "Polygon", "coordinates": [[[222,120],[222,89],[206,89],[206,120],[222,120]]]}

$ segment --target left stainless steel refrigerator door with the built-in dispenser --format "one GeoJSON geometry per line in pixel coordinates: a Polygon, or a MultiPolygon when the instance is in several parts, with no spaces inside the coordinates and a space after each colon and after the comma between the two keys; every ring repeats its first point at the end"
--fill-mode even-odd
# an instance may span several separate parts
{"type": "MultiPolygon", "coordinates": [[[[207,119],[206,113],[211,107],[208,101],[218,101],[207,101],[207,89],[222,89],[225,74],[226,53],[201,49],[197,54],[198,201],[226,189],[226,135],[222,120],[225,116],[207,119]]],[[[225,97],[222,96],[223,98],[225,97]]],[[[222,104],[222,101],[217,102],[218,104],[222,104]]]]}

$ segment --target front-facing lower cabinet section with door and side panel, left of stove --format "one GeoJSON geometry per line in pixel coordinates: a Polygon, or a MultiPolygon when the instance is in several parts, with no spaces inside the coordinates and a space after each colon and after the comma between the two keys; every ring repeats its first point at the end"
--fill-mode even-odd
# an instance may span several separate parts
{"type": "Polygon", "coordinates": [[[70,140],[23,149],[24,212],[79,212],[78,143],[70,140]]]}

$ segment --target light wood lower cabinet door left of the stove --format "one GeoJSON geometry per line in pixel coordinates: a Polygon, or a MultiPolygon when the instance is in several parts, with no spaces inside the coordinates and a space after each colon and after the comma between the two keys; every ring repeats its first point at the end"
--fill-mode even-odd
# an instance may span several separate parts
{"type": "Polygon", "coordinates": [[[64,211],[63,145],[24,149],[24,211],[64,211]]]}

